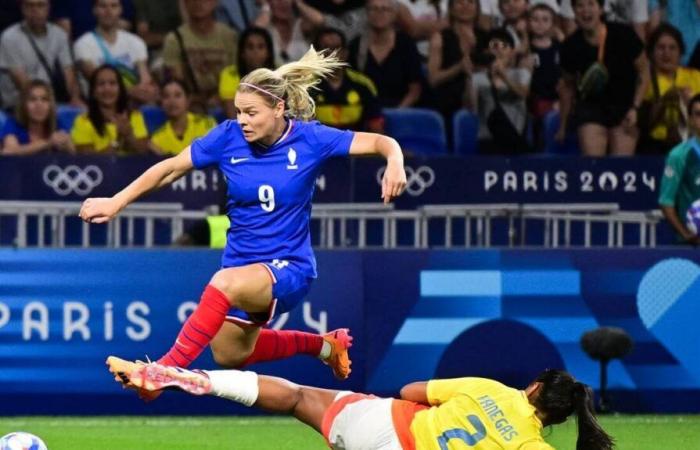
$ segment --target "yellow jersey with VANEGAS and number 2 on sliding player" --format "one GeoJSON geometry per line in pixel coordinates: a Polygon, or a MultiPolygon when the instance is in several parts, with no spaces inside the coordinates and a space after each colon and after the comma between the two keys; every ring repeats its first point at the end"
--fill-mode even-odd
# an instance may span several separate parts
{"type": "Polygon", "coordinates": [[[418,450],[552,450],[523,391],[485,378],[431,380],[431,408],[410,431],[418,450]]]}

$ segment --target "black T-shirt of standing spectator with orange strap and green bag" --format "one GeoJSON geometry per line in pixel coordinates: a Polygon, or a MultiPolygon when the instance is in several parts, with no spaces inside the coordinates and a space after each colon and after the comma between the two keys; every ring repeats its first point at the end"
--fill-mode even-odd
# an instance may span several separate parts
{"type": "MultiPolygon", "coordinates": [[[[642,53],[644,44],[632,27],[607,23],[603,62],[609,79],[605,88],[587,99],[590,103],[628,107],[634,99],[637,70],[634,62],[642,53]]],[[[598,46],[586,41],[581,29],[569,36],[561,47],[561,68],[578,82],[586,70],[598,60],[598,46]]]]}

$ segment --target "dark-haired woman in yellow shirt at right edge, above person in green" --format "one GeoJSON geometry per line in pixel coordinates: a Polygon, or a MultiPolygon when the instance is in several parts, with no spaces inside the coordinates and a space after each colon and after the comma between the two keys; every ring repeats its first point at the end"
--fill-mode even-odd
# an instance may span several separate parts
{"type": "Polygon", "coordinates": [[[686,105],[700,93],[700,71],[682,67],[683,36],[662,24],[649,36],[650,86],[640,109],[641,153],[666,154],[685,139],[686,105]]]}

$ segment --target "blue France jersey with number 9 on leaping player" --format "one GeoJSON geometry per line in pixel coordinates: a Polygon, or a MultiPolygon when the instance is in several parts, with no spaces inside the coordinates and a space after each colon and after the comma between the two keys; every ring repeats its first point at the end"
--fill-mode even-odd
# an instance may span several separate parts
{"type": "Polygon", "coordinates": [[[283,259],[316,277],[309,234],[316,176],[326,159],[349,153],[352,139],[350,131],[297,120],[266,149],[249,144],[234,120],[196,139],[194,166],[218,164],[228,183],[231,227],[222,266],[283,259]]]}

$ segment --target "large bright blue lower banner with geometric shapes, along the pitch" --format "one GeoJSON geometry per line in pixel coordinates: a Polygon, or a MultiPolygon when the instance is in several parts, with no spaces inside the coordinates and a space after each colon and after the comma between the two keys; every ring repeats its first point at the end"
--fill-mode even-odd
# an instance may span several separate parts
{"type": "MultiPolygon", "coordinates": [[[[329,251],[318,261],[307,299],[272,326],[351,328],[350,380],[303,356],[255,370],[382,395],[464,375],[525,386],[547,367],[597,387],[579,340],[615,326],[634,348],[609,366],[613,406],[700,412],[695,251],[329,251]]],[[[176,394],[144,405],[104,366],[110,354],[161,356],[218,263],[203,250],[0,251],[0,414],[249,413],[176,394]]],[[[215,367],[209,352],[195,366],[215,367]]]]}

